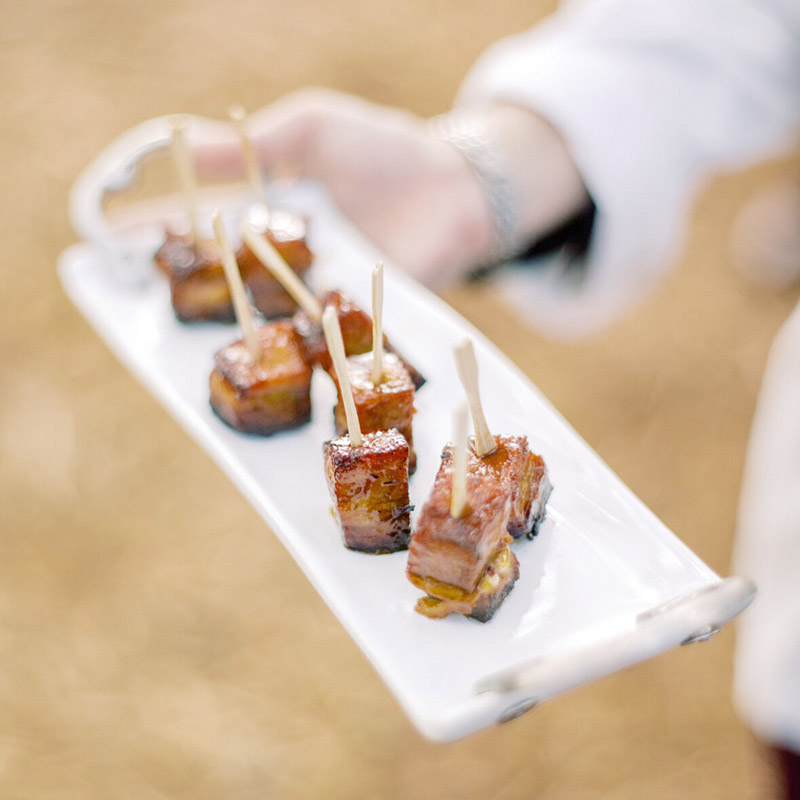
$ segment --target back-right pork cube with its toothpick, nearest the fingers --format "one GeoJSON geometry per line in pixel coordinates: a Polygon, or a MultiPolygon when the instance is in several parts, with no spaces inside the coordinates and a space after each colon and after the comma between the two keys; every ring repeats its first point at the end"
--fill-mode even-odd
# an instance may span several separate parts
{"type": "MultiPolygon", "coordinates": [[[[245,111],[241,106],[233,106],[229,113],[241,142],[248,180],[257,198],[257,202],[248,208],[245,222],[255,235],[266,239],[302,279],[314,261],[306,240],[307,222],[288,211],[271,208],[267,203],[255,148],[247,133],[245,111]]],[[[236,261],[253,304],[265,317],[290,317],[297,310],[295,299],[264,267],[247,242],[243,241],[236,251],[236,261]]]]}

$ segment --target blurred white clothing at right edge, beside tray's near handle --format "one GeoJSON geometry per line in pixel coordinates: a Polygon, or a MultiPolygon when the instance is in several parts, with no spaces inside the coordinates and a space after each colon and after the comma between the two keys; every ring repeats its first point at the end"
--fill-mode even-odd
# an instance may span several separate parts
{"type": "Polygon", "coordinates": [[[800,753],[800,305],[776,337],[753,420],[734,551],[758,592],[736,637],[734,700],[800,753]]]}

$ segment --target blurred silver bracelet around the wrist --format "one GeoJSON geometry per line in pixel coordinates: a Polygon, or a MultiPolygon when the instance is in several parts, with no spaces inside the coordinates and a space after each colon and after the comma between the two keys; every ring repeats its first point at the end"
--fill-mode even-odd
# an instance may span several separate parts
{"type": "Polygon", "coordinates": [[[492,257],[508,261],[523,249],[520,243],[518,203],[511,181],[503,172],[487,135],[484,117],[469,109],[454,109],[433,117],[431,135],[453,145],[466,158],[489,205],[492,221],[492,257]]]}

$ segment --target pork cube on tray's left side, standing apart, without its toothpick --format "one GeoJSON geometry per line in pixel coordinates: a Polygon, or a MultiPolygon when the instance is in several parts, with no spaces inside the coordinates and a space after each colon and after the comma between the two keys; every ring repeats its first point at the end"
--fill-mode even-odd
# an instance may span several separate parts
{"type": "Polygon", "coordinates": [[[253,362],[240,340],[214,357],[211,407],[240,431],[268,436],[311,419],[311,374],[290,320],[258,329],[261,355],[253,362]]]}

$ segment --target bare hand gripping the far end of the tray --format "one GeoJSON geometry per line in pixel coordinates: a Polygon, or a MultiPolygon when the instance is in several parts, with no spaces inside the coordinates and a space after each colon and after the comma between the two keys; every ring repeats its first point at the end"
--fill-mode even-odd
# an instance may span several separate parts
{"type": "MultiPolygon", "coordinates": [[[[492,220],[481,187],[425,120],[303,90],[252,114],[247,128],[269,173],[319,181],[381,253],[417,280],[441,287],[488,261],[492,220]]],[[[196,156],[206,176],[244,170],[233,133],[198,147],[196,156]]]]}

